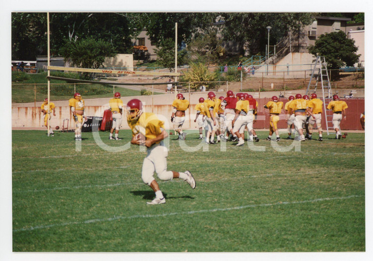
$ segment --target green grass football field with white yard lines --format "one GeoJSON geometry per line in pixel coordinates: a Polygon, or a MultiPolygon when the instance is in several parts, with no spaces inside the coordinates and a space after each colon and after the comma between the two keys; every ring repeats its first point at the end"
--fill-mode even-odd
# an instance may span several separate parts
{"type": "Polygon", "coordinates": [[[99,143],[83,133],[81,146],[74,133],[55,133],[12,131],[14,252],[365,251],[364,133],[324,135],[300,152],[274,149],[267,132],[254,144],[265,151],[227,142],[225,152],[186,152],[170,135],[168,170],[190,170],[197,187],[159,182],[166,204],[155,206],[141,181],[146,153],[120,151],[129,130],[121,141],[100,132],[99,143]]]}

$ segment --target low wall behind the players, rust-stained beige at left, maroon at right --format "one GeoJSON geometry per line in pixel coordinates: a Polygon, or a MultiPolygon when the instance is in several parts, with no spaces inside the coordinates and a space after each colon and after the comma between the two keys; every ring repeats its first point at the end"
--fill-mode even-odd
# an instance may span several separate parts
{"type": "MultiPolygon", "coordinates": [[[[364,112],[365,100],[363,98],[355,99],[342,99],[346,101],[348,109],[346,110],[347,120],[341,123],[342,130],[362,130],[360,125],[360,114],[364,112]]],[[[258,101],[258,119],[254,124],[254,129],[269,129],[269,110],[263,106],[269,101],[269,98],[257,99],[258,101]]],[[[280,99],[280,101],[287,102],[286,99],[280,99]]],[[[170,104],[167,105],[146,105],[145,111],[153,112],[162,115],[162,120],[168,121],[168,126],[172,129],[170,117],[172,114],[172,107],[170,104]]],[[[186,121],[184,123],[184,129],[195,129],[197,130],[197,124],[194,123],[195,104],[190,104],[190,109],[186,113],[186,121]]],[[[87,116],[103,116],[105,106],[86,106],[85,114],[87,116]]],[[[331,111],[328,111],[331,113],[331,111]]],[[[69,106],[59,106],[55,110],[56,116],[52,116],[51,126],[54,129],[55,126],[62,126],[63,119],[69,119],[69,129],[74,129],[71,125],[71,115],[69,106]]],[[[125,113],[126,117],[126,113],[125,113]]],[[[280,122],[278,127],[280,129],[286,129],[287,125],[285,122],[285,114],[280,115],[280,122]]],[[[40,110],[40,107],[12,107],[12,127],[13,128],[40,128],[44,126],[44,115],[40,110]]],[[[325,130],[325,122],[322,121],[322,127],[325,130]]],[[[127,129],[127,120],[123,118],[122,128],[127,129]]],[[[167,125],[166,125],[167,128],[167,125]]]]}

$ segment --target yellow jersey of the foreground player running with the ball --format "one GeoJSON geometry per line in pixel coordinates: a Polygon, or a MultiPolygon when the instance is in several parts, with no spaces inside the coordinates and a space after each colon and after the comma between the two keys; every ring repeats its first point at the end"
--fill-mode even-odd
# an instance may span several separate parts
{"type": "MultiPolygon", "coordinates": [[[[145,135],[146,139],[154,139],[162,133],[161,128],[164,130],[164,122],[160,121],[157,115],[151,112],[143,112],[138,120],[127,120],[127,122],[132,130],[133,137],[141,133],[145,135]]],[[[157,143],[160,143],[160,141],[157,143]]]]}

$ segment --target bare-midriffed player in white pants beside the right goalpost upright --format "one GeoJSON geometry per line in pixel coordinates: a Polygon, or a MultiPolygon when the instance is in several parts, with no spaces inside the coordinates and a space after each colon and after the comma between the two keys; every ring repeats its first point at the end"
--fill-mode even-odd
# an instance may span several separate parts
{"type": "Polygon", "coordinates": [[[189,101],[184,98],[183,94],[178,93],[172,107],[171,122],[174,125],[174,130],[179,133],[180,140],[185,140],[187,133],[183,132],[182,127],[185,122],[185,111],[189,108],[189,101]]]}

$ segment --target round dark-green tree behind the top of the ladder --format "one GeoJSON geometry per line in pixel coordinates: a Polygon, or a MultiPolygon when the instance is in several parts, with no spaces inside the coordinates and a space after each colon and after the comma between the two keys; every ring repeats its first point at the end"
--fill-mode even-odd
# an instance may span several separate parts
{"type": "Polygon", "coordinates": [[[356,54],[357,47],[353,39],[348,39],[343,31],[325,33],[309,48],[315,57],[325,56],[329,69],[339,69],[353,66],[359,61],[360,54],[356,54]]]}

